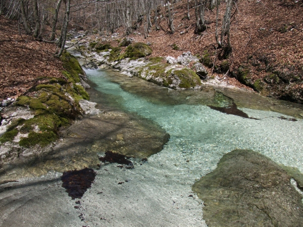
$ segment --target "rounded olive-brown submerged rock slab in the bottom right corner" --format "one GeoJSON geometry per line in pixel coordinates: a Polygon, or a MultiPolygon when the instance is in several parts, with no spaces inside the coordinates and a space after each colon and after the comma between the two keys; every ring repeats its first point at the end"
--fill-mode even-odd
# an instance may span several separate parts
{"type": "Polygon", "coordinates": [[[192,190],[208,226],[303,226],[302,197],[290,179],[266,156],[233,150],[192,190]]]}

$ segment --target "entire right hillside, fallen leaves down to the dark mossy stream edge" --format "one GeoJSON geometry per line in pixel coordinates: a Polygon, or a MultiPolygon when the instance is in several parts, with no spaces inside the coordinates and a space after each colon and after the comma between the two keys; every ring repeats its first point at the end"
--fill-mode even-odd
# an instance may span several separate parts
{"type": "MultiPolygon", "coordinates": [[[[303,103],[302,0],[239,0],[233,8],[232,52],[228,55],[217,48],[216,10],[206,12],[207,30],[195,34],[194,1],[189,3],[190,20],[186,19],[187,1],[174,5],[174,34],[169,32],[165,8],[161,8],[159,31],[153,26],[149,37],[144,39],[143,26],[140,26],[130,37],[150,42],[153,48],[151,56],[170,55],[176,58],[184,51],[191,51],[209,67],[211,76],[222,78],[222,74],[227,73],[228,84],[243,86],[235,81],[236,78],[262,95],[303,103]],[[177,50],[173,49],[174,44],[177,50]]],[[[219,18],[224,12],[222,1],[219,18]]]]}

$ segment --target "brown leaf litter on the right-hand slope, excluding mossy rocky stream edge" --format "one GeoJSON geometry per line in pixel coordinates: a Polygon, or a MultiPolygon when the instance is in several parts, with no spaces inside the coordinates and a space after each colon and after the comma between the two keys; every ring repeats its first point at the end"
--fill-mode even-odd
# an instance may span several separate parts
{"type": "MultiPolygon", "coordinates": [[[[159,13],[163,15],[160,18],[160,30],[156,31],[153,25],[149,36],[145,39],[143,26],[140,26],[130,37],[138,42],[150,42],[153,49],[151,56],[177,58],[185,51],[191,51],[192,54],[199,56],[208,53],[211,65],[215,69],[220,69],[220,65],[226,58],[223,57],[223,50],[218,49],[216,44],[216,10],[206,10],[205,18],[208,28],[200,34],[195,34],[194,1],[189,3],[190,20],[187,19],[187,1],[181,1],[174,6],[176,30],[174,34],[170,33],[165,9],[162,8],[159,13]],[[177,50],[173,49],[175,45],[178,47],[177,50]]],[[[223,18],[224,7],[225,5],[221,4],[219,18],[223,18]]],[[[268,71],[268,65],[282,72],[291,69],[291,73],[303,76],[303,1],[239,0],[236,9],[233,11],[231,20],[232,52],[227,57],[229,62],[227,83],[237,87],[246,87],[233,78],[230,72],[235,72],[239,66],[246,64],[248,59],[254,61],[253,65],[257,66],[250,66],[252,81],[263,80],[268,76],[271,73],[268,71]]],[[[125,31],[120,29],[118,32],[125,31]]],[[[216,72],[212,67],[208,70],[209,73],[213,72],[215,76],[217,75],[218,71],[216,72]]],[[[219,73],[221,74],[219,77],[222,78],[223,72],[219,70],[219,73]]]]}

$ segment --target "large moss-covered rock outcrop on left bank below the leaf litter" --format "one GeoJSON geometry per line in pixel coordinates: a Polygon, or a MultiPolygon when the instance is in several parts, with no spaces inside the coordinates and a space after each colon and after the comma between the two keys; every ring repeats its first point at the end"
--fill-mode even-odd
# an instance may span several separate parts
{"type": "Polygon", "coordinates": [[[85,75],[78,61],[71,54],[62,54],[63,75],[61,78],[43,78],[44,84],[31,88],[27,94],[17,98],[16,105],[29,107],[34,111],[34,118],[14,121],[8,131],[0,137],[0,142],[13,141],[18,133],[19,145],[32,147],[46,146],[58,139],[60,127],[68,126],[71,120],[83,113],[78,100],[89,99],[88,93],[80,85],[79,75],[85,75]]]}

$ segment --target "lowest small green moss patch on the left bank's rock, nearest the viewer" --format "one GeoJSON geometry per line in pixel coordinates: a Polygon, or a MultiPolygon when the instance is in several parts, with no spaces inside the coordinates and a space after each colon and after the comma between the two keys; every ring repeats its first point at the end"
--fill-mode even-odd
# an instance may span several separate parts
{"type": "Polygon", "coordinates": [[[33,147],[35,145],[40,145],[45,147],[51,142],[54,142],[58,139],[58,136],[54,132],[30,132],[28,137],[21,137],[19,145],[22,147],[33,147]]]}

